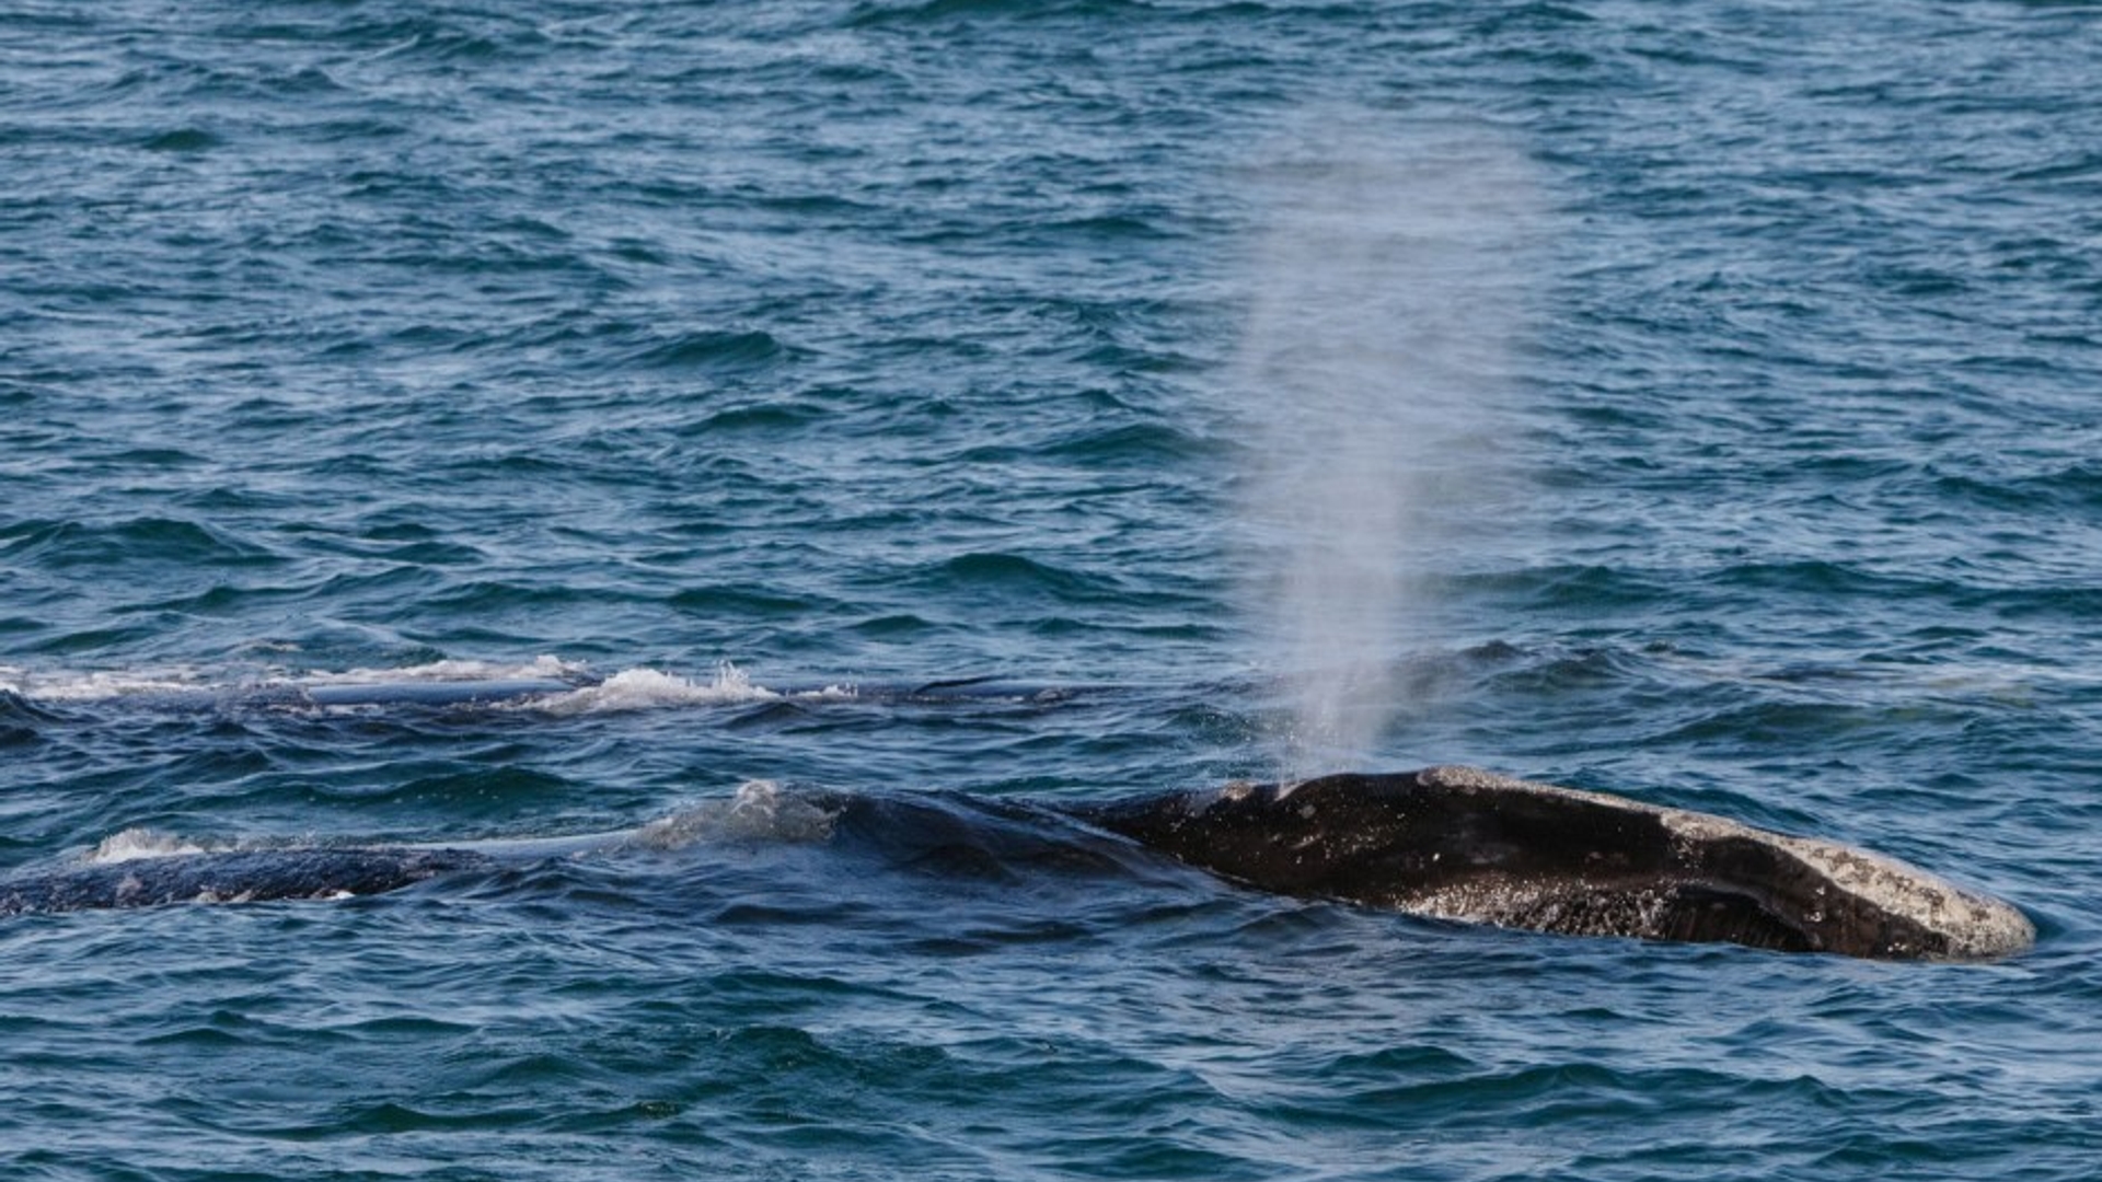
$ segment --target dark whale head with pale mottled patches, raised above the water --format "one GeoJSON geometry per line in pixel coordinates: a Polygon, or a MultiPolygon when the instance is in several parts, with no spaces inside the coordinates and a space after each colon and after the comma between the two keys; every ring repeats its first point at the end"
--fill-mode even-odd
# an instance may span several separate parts
{"type": "Polygon", "coordinates": [[[2018,909],[1881,854],[1476,768],[1072,812],[1261,890],[1465,923],[1946,961],[2037,936],[2018,909]]]}

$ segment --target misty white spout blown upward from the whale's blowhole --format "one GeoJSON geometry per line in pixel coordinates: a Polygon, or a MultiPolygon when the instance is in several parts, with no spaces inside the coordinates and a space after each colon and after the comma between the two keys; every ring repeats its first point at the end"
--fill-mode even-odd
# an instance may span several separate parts
{"type": "Polygon", "coordinates": [[[1291,688],[1286,778],[1362,766],[1425,635],[1442,547],[1495,530],[1539,185],[1497,130],[1324,111],[1249,177],[1236,391],[1255,465],[1246,599],[1291,688]]]}

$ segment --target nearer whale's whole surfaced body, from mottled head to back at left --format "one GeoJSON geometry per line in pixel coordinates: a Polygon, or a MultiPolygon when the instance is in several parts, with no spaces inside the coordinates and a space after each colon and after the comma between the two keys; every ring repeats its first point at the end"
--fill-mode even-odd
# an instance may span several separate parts
{"type": "Polygon", "coordinates": [[[746,787],[633,831],[439,845],[174,852],[0,879],[0,917],[181,902],[330,900],[719,837],[879,833],[1001,856],[1017,841],[1129,864],[1118,843],[1238,888],[1555,936],[1726,942],[1864,959],[1995,961],[2035,942],[2010,902],[1896,858],[1478,768],[1333,774],[1106,801],[935,801],[746,787]],[[1045,824],[1068,835],[1032,837],[1045,824]],[[1024,837],[1017,837],[1024,833],[1024,837]]]}

